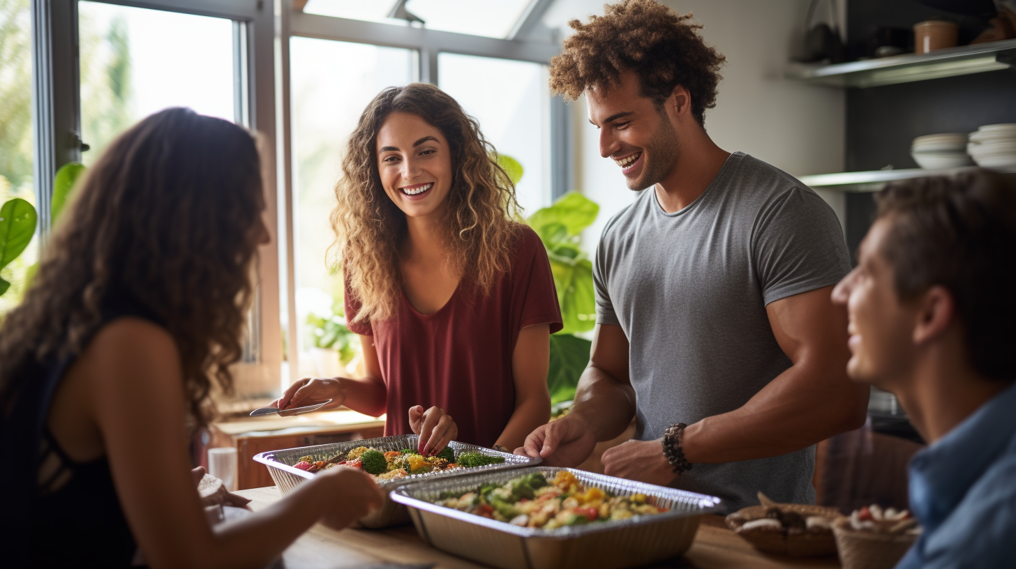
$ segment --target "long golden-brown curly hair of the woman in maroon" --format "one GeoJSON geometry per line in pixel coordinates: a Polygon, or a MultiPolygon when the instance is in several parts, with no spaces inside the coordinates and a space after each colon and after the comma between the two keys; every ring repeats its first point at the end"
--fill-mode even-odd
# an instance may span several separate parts
{"type": "Polygon", "coordinates": [[[438,87],[411,83],[382,90],[367,106],[350,135],[342,177],[331,213],[332,251],[360,303],[354,321],[394,317],[402,294],[399,248],[405,214],[385,194],[378,173],[377,137],[392,113],[417,115],[448,140],[454,177],[444,209],[448,260],[485,294],[509,269],[519,215],[515,186],[498,166],[494,147],[477,120],[438,87]]]}

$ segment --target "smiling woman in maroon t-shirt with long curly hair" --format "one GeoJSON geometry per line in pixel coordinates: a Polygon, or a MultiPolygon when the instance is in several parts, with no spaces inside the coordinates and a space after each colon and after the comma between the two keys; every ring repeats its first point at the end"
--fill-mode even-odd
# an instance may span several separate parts
{"type": "Polygon", "coordinates": [[[477,121],[434,85],[384,89],[350,136],[335,198],[367,377],[303,379],[277,404],[386,413],[385,434],[420,434],[425,454],[453,439],[521,445],[550,418],[561,311],[544,245],[516,220],[514,185],[477,121]]]}

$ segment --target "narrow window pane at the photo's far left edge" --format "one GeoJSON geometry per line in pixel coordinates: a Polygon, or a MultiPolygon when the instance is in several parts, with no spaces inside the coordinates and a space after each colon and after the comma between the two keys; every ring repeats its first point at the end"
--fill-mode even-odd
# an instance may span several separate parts
{"type": "MultiPolygon", "coordinates": [[[[19,197],[33,205],[31,16],[28,0],[0,0],[0,204],[19,197]]],[[[39,239],[0,271],[10,289],[0,315],[20,301],[24,275],[36,262],[39,239]]]]}

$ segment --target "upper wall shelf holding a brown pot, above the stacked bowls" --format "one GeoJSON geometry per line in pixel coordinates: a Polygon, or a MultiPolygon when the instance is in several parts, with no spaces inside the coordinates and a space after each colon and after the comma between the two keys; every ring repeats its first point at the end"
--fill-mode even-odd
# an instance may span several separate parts
{"type": "Polygon", "coordinates": [[[832,65],[791,64],[788,79],[838,87],[874,87],[1011,69],[1016,64],[1016,40],[903,54],[832,65]]]}

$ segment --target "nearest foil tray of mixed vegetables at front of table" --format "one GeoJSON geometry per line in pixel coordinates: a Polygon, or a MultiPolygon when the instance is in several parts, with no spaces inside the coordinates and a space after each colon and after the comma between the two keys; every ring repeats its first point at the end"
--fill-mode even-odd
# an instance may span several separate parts
{"type": "Polygon", "coordinates": [[[700,516],[723,509],[719,498],[712,496],[550,466],[403,483],[391,493],[391,499],[408,507],[417,531],[430,545],[502,569],[620,569],[658,562],[688,551],[700,516]],[[530,472],[542,472],[551,480],[560,470],[573,473],[587,488],[609,490],[619,496],[645,494],[650,503],[670,511],[537,529],[433,503],[442,492],[465,492],[482,484],[506,483],[530,472]]]}

